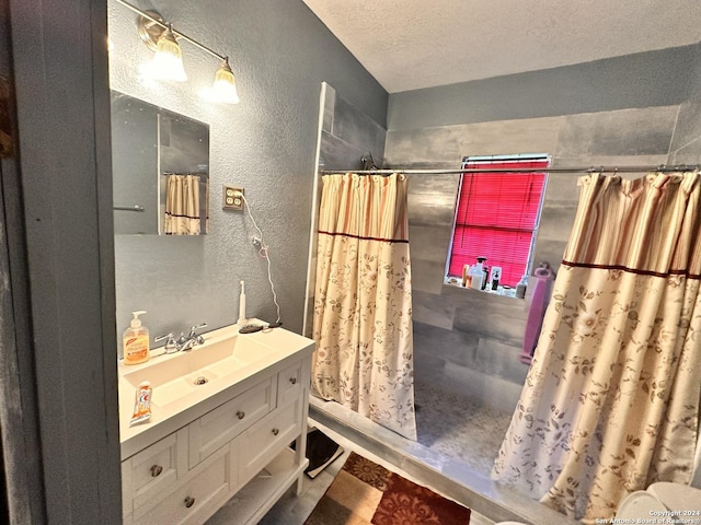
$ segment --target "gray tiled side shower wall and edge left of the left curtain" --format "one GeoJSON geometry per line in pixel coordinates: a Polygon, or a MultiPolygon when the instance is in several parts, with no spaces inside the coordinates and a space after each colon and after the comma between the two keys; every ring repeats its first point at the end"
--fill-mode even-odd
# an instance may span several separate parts
{"type": "MultiPolygon", "coordinates": [[[[375,159],[382,164],[387,130],[324,82],[322,90],[323,119],[319,137],[319,170],[347,172],[361,170],[363,158],[375,159]]],[[[314,210],[319,210],[321,180],[317,180],[313,197],[314,210]]],[[[314,214],[314,220],[317,215],[314,214]]],[[[307,315],[303,332],[312,335],[314,311],[314,285],[317,268],[317,223],[312,224],[310,235],[311,250],[309,275],[307,279],[307,315]]]]}

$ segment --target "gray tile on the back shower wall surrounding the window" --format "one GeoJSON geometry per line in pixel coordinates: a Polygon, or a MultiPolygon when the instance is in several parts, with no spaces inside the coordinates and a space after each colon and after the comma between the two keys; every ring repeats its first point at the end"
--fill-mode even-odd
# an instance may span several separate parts
{"type": "MultiPolygon", "coordinates": [[[[690,105],[690,113],[691,107],[700,106],[690,105]]],[[[550,153],[553,166],[659,165],[667,161],[678,112],[678,105],[668,105],[390,129],[384,162],[458,168],[467,154],[550,153]]],[[[696,133],[701,142],[699,129],[696,133]]],[[[555,271],[574,222],[577,177],[550,174],[548,178],[535,262],[548,261],[555,271]]],[[[444,284],[458,184],[457,175],[410,178],[416,380],[438,382],[512,411],[527,373],[518,354],[528,301],[444,284]]]]}

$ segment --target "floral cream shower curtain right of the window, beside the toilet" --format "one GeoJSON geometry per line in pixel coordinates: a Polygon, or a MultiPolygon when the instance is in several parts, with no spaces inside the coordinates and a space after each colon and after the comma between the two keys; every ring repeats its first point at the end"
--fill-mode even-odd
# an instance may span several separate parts
{"type": "Polygon", "coordinates": [[[654,481],[689,482],[701,395],[699,177],[579,179],[494,479],[583,523],[612,517],[654,481]]]}

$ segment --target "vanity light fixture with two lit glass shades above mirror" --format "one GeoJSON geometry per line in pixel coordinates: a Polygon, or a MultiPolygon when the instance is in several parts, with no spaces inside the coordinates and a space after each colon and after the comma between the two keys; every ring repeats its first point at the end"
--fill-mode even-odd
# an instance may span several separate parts
{"type": "Polygon", "coordinates": [[[229,57],[220,55],[184,33],[174,30],[172,24],[164,22],[156,11],[141,11],[125,0],[117,0],[117,2],[137,13],[139,36],[149,49],[156,51],[148,70],[145,69],[146,75],[153,79],[176,82],[187,80],[187,74],[183,67],[182,50],[177,42],[179,39],[183,39],[221,60],[221,66],[215,74],[212,86],[206,90],[206,96],[212,102],[227,104],[239,103],[237,83],[233,72],[231,71],[231,66],[229,66],[229,57]]]}

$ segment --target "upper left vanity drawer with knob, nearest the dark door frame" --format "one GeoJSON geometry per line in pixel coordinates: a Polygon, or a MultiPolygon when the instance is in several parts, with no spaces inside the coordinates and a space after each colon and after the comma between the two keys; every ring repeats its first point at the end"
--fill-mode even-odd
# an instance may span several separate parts
{"type": "Polygon", "coordinates": [[[123,462],[125,513],[158,503],[187,471],[185,439],[173,433],[123,462]]]}

